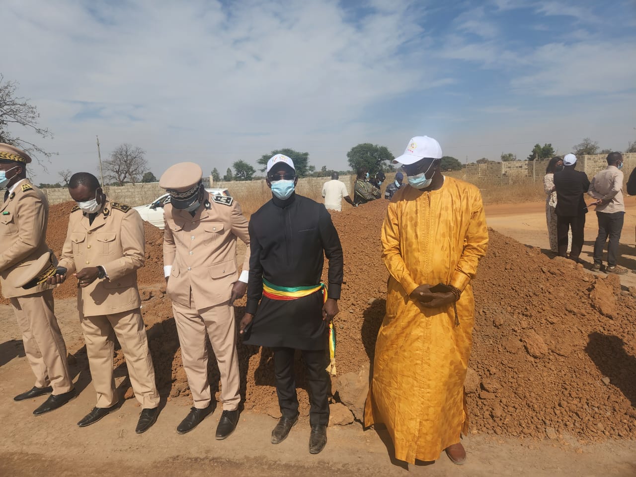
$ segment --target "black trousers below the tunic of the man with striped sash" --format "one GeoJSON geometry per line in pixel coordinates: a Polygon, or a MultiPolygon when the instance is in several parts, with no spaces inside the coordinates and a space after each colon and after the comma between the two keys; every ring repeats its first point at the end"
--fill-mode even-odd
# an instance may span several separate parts
{"type": "MultiPolygon", "coordinates": [[[[294,349],[274,348],[274,374],[280,413],[284,417],[298,415],[298,396],[294,378],[294,349]]],[[[325,350],[302,350],[307,369],[307,391],[309,392],[309,424],[329,424],[329,374],[325,350]]]]}

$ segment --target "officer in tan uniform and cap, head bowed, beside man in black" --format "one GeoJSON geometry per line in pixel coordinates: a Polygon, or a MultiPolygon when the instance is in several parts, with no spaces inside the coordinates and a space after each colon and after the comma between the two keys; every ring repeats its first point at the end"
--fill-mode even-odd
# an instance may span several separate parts
{"type": "Polygon", "coordinates": [[[232,197],[212,196],[192,162],[175,164],[159,185],[170,193],[166,204],[163,263],[167,295],[181,343],[183,368],[194,400],[177,432],[191,431],[212,411],[205,335],[221,372],[223,414],[216,439],[225,439],[239,420],[239,359],[233,303],[247,289],[247,219],[232,197]],[[237,237],[247,245],[243,272],[237,272],[237,237]]]}

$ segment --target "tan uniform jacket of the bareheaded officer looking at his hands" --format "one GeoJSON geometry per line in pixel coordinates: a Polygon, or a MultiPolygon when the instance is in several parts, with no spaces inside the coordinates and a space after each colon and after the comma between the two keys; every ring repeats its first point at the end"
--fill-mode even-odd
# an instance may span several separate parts
{"type": "Polygon", "coordinates": [[[78,287],[78,308],[84,316],[111,315],[139,308],[137,268],[146,258],[144,222],[139,212],[106,200],[92,225],[79,207],[69,218],[60,266],[67,276],[87,266],[101,265],[107,279],[78,287]]]}

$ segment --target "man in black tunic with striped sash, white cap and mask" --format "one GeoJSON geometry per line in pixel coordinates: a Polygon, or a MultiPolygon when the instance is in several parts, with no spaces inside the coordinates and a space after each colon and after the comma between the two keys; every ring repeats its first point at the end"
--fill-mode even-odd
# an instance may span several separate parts
{"type": "Polygon", "coordinates": [[[240,333],[244,343],[273,350],[282,417],[272,431],[272,444],[282,442],[298,420],[294,350],[301,350],[310,398],[309,452],[319,453],[327,443],[328,326],[338,314],[342,247],[327,209],[296,195],[296,183],[290,158],[270,158],[267,184],[273,197],[249,221],[247,308],[240,333]],[[326,299],[327,289],[321,284],[323,252],[329,260],[326,299]]]}

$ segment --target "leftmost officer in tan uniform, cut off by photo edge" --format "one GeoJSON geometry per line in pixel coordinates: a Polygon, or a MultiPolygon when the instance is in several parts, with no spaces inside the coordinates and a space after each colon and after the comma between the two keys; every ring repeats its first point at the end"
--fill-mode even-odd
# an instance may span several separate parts
{"type": "Polygon", "coordinates": [[[0,284],[15,312],[24,352],[36,375],[32,389],[13,399],[22,401],[52,392],[33,411],[40,415],[59,408],[75,396],[66,345],[53,312],[53,286],[40,284],[24,289],[17,280],[50,249],[46,245],[48,202],[26,178],[31,158],[24,151],[0,143],[0,187],[6,188],[0,207],[0,284]]]}

